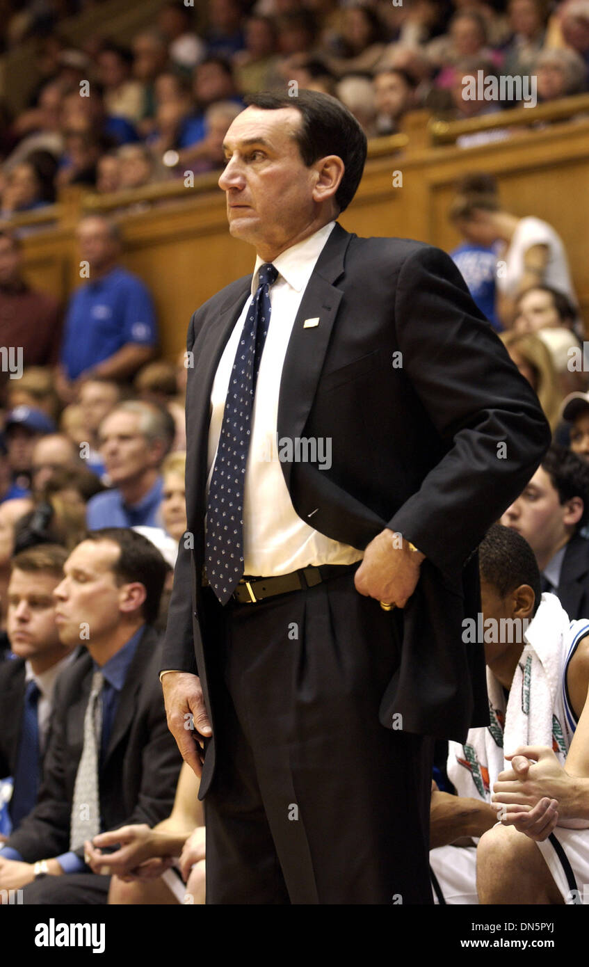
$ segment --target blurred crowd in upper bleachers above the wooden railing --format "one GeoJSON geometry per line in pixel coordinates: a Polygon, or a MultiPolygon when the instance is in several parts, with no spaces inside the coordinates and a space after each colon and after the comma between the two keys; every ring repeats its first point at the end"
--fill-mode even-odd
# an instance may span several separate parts
{"type": "MultiPolygon", "coordinates": [[[[397,131],[417,107],[468,120],[517,106],[509,95],[465,98],[465,78],[478,72],[534,75],[540,103],[588,90],[587,0],[209,0],[198,9],[165,0],[127,43],[106,23],[77,46],[60,33],[62,5],[44,6],[41,20],[17,8],[4,31],[11,49],[37,44],[41,73],[24,108],[14,111],[8,92],[0,104],[4,220],[68,185],[108,193],[221,168],[223,135],[260,90],[297,83],[333,94],[369,137],[397,131]]],[[[457,143],[508,136],[494,128],[457,143]]]]}

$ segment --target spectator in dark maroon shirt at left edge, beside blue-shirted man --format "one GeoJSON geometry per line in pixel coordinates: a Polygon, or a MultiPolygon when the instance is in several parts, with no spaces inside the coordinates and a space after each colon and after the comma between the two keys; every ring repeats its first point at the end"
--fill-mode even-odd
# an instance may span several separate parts
{"type": "Polygon", "coordinates": [[[22,245],[15,232],[0,230],[0,318],[2,342],[22,348],[22,366],[57,361],[61,311],[53,296],[32,288],[22,272],[22,245]]]}

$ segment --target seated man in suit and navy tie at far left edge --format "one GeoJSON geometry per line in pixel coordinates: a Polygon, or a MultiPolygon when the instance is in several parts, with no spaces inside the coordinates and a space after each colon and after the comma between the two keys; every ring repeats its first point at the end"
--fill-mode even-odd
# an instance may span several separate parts
{"type": "Polygon", "coordinates": [[[0,663],[0,778],[14,779],[13,831],[37,803],[55,682],[74,659],[75,645],[60,641],[53,598],[67,557],[57,544],[21,551],[8,586],[7,630],[17,658],[0,663]]]}

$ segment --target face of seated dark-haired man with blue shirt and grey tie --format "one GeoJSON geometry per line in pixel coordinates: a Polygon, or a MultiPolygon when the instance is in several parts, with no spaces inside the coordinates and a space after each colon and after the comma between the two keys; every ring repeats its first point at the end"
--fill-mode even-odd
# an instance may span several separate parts
{"type": "Polygon", "coordinates": [[[74,547],[64,565],[64,579],[53,592],[55,622],[65,645],[92,642],[118,626],[124,585],[117,587],[113,568],[120,553],[118,544],[107,540],[82,541],[74,547]]]}

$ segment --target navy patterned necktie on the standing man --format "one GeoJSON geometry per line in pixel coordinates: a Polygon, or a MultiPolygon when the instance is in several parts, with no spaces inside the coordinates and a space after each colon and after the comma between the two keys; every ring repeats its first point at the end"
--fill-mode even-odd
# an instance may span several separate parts
{"type": "Polygon", "coordinates": [[[278,269],[265,262],[240,337],[221,424],[219,448],[207,504],[206,571],[221,604],[226,604],[244,573],[244,494],[250,450],[253,396],[270,325],[270,286],[278,269]]]}

